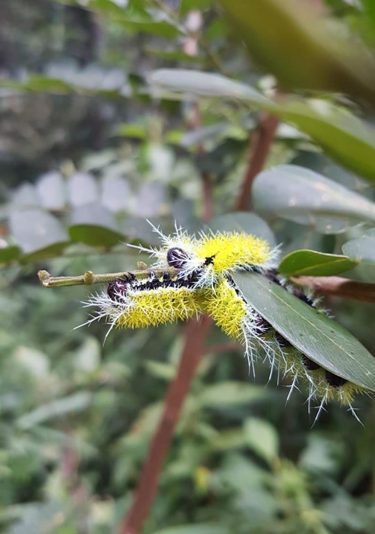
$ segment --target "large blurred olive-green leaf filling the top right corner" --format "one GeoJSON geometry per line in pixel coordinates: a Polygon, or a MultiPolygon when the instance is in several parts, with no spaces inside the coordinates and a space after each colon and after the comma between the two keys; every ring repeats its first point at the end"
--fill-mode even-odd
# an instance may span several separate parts
{"type": "Polygon", "coordinates": [[[298,0],[221,0],[236,35],[283,86],[346,92],[375,106],[375,64],[359,40],[298,0]],[[331,22],[331,24],[329,24],[331,22]],[[281,61],[280,58],[288,58],[281,61]]]}

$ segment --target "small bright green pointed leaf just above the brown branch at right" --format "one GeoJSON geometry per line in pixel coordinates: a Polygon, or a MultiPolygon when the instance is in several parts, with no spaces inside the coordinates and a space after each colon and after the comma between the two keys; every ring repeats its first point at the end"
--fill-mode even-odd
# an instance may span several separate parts
{"type": "Polygon", "coordinates": [[[296,250],[281,260],[278,271],[287,276],[332,276],[344,273],[357,263],[340,254],[296,250]]]}

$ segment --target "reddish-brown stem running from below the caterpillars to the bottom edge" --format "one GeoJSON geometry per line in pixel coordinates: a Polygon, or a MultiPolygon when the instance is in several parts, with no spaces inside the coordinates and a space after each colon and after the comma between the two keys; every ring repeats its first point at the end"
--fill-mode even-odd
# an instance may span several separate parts
{"type": "Polygon", "coordinates": [[[158,489],[160,472],[163,469],[165,456],[172,441],[174,428],[181,413],[183,402],[188,395],[192,379],[197,371],[199,362],[201,362],[204,340],[208,334],[209,327],[210,319],[207,316],[203,316],[201,321],[191,320],[186,325],[185,346],[178,371],[169,386],[163,415],[153,436],[148,458],[143,464],[138,487],[135,490],[133,505],[119,528],[119,534],[140,533],[142,524],[149,514],[149,509],[158,489]]]}

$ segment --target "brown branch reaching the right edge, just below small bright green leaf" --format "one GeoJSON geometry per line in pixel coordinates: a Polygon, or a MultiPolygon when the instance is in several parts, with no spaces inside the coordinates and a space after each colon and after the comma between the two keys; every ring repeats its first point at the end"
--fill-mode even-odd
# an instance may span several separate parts
{"type": "Polygon", "coordinates": [[[354,282],[339,276],[299,276],[291,280],[294,284],[309,287],[317,295],[375,302],[375,284],[354,282]]]}

